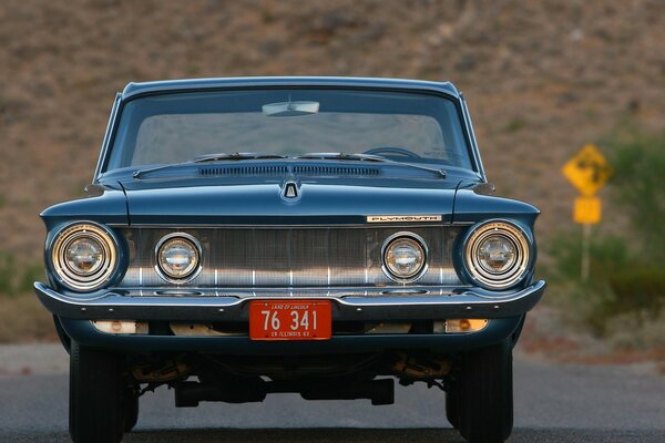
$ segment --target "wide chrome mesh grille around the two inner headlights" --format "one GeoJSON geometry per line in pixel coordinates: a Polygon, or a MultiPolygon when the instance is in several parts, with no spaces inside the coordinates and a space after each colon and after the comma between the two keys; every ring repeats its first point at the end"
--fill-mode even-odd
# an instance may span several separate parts
{"type": "Polygon", "coordinates": [[[415,285],[459,285],[452,244],[460,228],[195,228],[125,229],[130,267],[120,286],[170,287],[155,271],[155,245],[183,231],[203,248],[202,272],[182,287],[335,288],[396,286],[381,270],[381,245],[398,231],[421,236],[428,247],[428,270],[415,285]]]}

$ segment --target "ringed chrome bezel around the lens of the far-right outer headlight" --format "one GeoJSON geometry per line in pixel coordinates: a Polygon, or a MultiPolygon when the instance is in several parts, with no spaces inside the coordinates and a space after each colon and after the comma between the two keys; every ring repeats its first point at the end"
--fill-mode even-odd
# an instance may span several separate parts
{"type": "Polygon", "coordinates": [[[504,290],[520,284],[529,274],[532,255],[532,241],[524,229],[508,220],[493,219],[479,224],[467,235],[463,262],[467,274],[479,286],[504,290]],[[513,247],[515,258],[505,270],[492,271],[479,258],[480,246],[491,237],[499,237],[513,247]]]}

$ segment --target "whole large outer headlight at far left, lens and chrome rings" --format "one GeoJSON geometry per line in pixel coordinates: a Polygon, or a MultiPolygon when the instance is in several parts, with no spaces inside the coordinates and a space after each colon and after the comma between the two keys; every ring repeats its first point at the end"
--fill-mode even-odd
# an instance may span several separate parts
{"type": "Polygon", "coordinates": [[[71,289],[90,291],[103,286],[116,264],[113,237],[100,225],[71,225],[55,236],[51,249],[53,269],[71,289]]]}

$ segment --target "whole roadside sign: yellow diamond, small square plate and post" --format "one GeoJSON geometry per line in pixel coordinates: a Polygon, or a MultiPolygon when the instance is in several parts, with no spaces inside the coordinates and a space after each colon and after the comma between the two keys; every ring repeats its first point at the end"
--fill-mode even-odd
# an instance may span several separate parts
{"type": "Polygon", "coordinates": [[[586,282],[591,261],[591,225],[598,224],[602,218],[601,199],[595,194],[605,186],[612,175],[612,167],[595,145],[587,144],[563,165],[561,172],[582,194],[575,198],[573,220],[582,225],[580,277],[586,282]]]}

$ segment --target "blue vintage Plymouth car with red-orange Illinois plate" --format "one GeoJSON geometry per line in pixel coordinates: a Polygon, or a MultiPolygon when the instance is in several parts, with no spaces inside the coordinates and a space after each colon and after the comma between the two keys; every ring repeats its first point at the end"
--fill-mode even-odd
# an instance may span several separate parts
{"type": "Polygon", "coordinates": [[[74,442],[121,441],[158,385],[379,405],[396,380],[444,391],[469,442],[510,435],[539,210],[493,195],[451,83],[130,83],[85,192],[41,214],[34,284],[74,442]]]}

